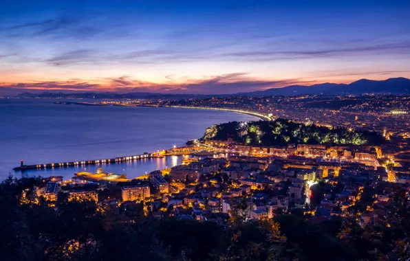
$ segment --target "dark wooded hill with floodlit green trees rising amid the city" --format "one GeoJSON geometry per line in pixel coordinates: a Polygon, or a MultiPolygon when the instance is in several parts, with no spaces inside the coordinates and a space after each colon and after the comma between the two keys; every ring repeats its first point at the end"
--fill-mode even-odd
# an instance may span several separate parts
{"type": "Polygon", "coordinates": [[[227,140],[259,146],[286,144],[378,145],[385,139],[369,131],[326,128],[290,120],[259,122],[228,122],[207,128],[202,139],[227,140]]]}

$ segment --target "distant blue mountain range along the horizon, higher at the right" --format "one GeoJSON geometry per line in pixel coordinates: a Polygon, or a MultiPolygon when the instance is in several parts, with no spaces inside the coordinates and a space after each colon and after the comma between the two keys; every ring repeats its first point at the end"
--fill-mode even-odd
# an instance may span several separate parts
{"type": "Polygon", "coordinates": [[[363,94],[363,93],[393,93],[393,94],[410,94],[410,79],[407,78],[389,78],[387,80],[367,80],[362,79],[350,84],[322,83],[310,86],[292,85],[283,88],[272,88],[264,91],[252,91],[248,93],[235,93],[226,95],[195,95],[195,94],[173,94],[173,93],[21,93],[18,95],[22,98],[96,98],[96,99],[169,99],[181,100],[189,98],[211,98],[224,97],[232,95],[246,96],[271,96],[271,95],[303,95],[303,94],[363,94]]]}

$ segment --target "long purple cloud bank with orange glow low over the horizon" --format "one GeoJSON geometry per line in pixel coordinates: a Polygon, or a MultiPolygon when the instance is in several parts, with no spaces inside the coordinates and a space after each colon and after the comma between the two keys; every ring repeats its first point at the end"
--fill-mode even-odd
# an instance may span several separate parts
{"type": "Polygon", "coordinates": [[[120,93],[143,91],[154,93],[227,94],[307,83],[314,82],[300,79],[263,80],[252,78],[246,73],[228,73],[220,76],[184,80],[184,82],[169,80],[164,83],[155,83],[129,76],[120,76],[118,78],[100,79],[98,84],[80,79],[71,79],[67,81],[33,81],[18,84],[0,83],[0,86],[21,90],[41,89],[44,91],[117,91],[120,93]]]}

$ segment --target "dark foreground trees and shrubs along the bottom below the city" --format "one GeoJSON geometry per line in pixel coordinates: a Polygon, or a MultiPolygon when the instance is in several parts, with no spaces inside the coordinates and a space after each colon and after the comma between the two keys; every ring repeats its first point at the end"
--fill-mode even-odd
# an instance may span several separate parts
{"type": "Polygon", "coordinates": [[[39,183],[41,179],[34,178],[1,183],[0,260],[409,258],[410,208],[405,192],[393,196],[393,209],[383,223],[363,228],[355,216],[325,219],[303,212],[246,221],[240,215],[246,201],[236,206],[228,222],[172,216],[159,220],[142,203],[131,212],[111,214],[97,203],[47,203],[35,196],[39,183]]]}

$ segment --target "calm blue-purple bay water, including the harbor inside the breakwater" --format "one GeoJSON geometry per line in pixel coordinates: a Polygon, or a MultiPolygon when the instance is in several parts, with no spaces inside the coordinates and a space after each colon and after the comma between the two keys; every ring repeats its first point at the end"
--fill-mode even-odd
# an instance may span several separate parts
{"type": "MultiPolygon", "coordinates": [[[[225,111],[119,106],[52,104],[51,100],[0,99],[0,180],[12,168],[25,164],[106,159],[182,146],[202,137],[212,124],[257,117],[225,111]]],[[[180,157],[111,163],[107,172],[138,177],[145,172],[175,166],[180,157]]],[[[97,166],[87,166],[94,172],[97,166]]],[[[83,170],[83,168],[81,168],[83,170]]],[[[29,175],[70,178],[77,168],[30,170],[29,175]]]]}

